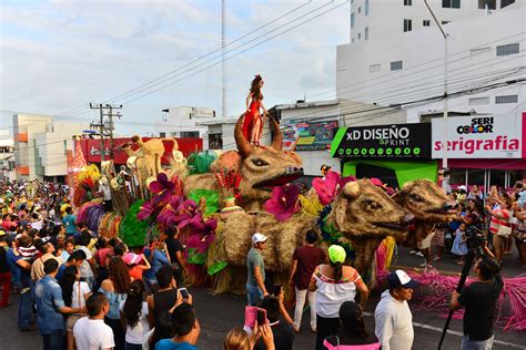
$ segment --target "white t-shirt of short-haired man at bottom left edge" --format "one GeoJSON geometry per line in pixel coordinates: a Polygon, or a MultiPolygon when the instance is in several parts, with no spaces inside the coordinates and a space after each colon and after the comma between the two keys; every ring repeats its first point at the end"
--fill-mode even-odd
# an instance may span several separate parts
{"type": "Polygon", "coordinates": [[[115,347],[113,331],[104,320],[90,320],[83,317],[73,327],[77,349],[100,350],[115,347]]]}

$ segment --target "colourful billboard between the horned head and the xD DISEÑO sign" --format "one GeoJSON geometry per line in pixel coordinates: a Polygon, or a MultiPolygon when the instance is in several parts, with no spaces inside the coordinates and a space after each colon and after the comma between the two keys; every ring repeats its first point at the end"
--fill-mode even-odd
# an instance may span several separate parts
{"type": "Polygon", "coordinates": [[[283,148],[287,151],[324,151],[334,137],[337,121],[283,125],[283,148]]]}

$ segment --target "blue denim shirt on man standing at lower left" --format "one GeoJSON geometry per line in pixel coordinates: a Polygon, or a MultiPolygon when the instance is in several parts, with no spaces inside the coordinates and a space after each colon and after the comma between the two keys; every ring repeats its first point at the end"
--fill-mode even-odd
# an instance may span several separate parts
{"type": "Polygon", "coordinates": [[[42,334],[51,334],[57,330],[65,330],[64,318],[59,311],[63,308],[62,289],[57,279],[45,275],[34,287],[37,305],[37,325],[42,334]]]}

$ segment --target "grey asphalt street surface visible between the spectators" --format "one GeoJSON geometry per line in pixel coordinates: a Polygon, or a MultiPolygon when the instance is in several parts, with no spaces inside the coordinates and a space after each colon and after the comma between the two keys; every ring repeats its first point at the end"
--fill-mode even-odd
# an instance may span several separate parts
{"type": "MultiPolygon", "coordinates": [[[[516,254],[505,257],[505,274],[517,276],[524,274],[524,269],[516,266],[516,254]]],[[[416,267],[423,258],[409,256],[405,248],[401,249],[399,266],[416,267]]],[[[444,261],[436,265],[439,269],[449,272],[459,272],[462,266],[456,265],[452,257],[445,256],[444,261]]],[[[245,297],[230,294],[212,295],[205,288],[190,288],[194,298],[194,306],[201,323],[200,349],[222,349],[222,341],[226,332],[236,326],[242,326],[244,318],[245,297]]],[[[370,301],[365,308],[365,323],[367,329],[374,331],[374,308],[380,300],[381,290],[373,290],[370,301]]],[[[17,296],[12,296],[17,302],[17,296]]],[[[409,302],[411,305],[411,302],[409,302]]],[[[413,308],[414,309],[414,308],[413,308]]],[[[293,310],[290,310],[293,313],[293,310]]],[[[415,340],[413,349],[437,349],[445,319],[435,312],[413,310],[413,323],[415,340]]],[[[462,337],[462,320],[452,320],[448,333],[445,338],[443,349],[459,349],[462,337]]],[[[496,343],[494,349],[526,349],[526,332],[506,331],[500,326],[496,327],[496,343]]],[[[17,305],[0,309],[0,350],[3,349],[40,349],[41,338],[38,331],[20,332],[17,329],[17,305]]],[[[302,331],[296,334],[294,349],[314,349],[315,334],[311,333],[308,327],[308,311],[304,313],[302,331]]]]}

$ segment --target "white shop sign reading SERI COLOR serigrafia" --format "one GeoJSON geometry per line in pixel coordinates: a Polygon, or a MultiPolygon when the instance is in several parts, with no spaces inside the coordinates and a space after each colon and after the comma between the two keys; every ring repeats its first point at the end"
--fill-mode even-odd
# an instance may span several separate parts
{"type": "MultiPolygon", "coordinates": [[[[447,119],[448,158],[522,158],[523,116],[513,114],[447,119]]],[[[444,156],[444,120],[434,119],[433,158],[444,156]]]]}

